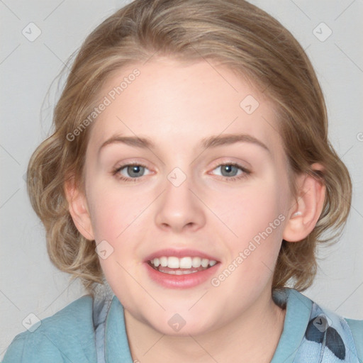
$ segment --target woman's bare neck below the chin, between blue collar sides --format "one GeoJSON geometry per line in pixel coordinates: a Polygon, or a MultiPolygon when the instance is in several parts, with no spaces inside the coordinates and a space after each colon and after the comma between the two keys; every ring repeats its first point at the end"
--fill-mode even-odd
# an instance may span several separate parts
{"type": "Polygon", "coordinates": [[[269,293],[238,319],[201,335],[164,335],[127,310],[125,324],[134,362],[269,363],[284,328],[285,313],[269,293]]]}

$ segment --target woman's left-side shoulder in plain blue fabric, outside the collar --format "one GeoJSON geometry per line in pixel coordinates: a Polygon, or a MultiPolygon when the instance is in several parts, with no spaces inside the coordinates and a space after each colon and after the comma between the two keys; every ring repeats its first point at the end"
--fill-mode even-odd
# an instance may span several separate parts
{"type": "Polygon", "coordinates": [[[82,296],[30,330],[16,335],[3,363],[93,362],[93,298],[82,296]]]}

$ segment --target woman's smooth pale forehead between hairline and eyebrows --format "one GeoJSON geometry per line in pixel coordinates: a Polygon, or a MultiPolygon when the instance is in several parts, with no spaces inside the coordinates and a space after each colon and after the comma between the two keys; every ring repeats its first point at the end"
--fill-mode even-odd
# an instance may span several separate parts
{"type": "Polygon", "coordinates": [[[209,61],[159,58],[123,67],[105,82],[99,100],[106,99],[91,130],[94,145],[126,135],[153,140],[155,147],[194,150],[201,139],[225,134],[250,135],[272,151],[281,145],[272,103],[209,61]]]}

